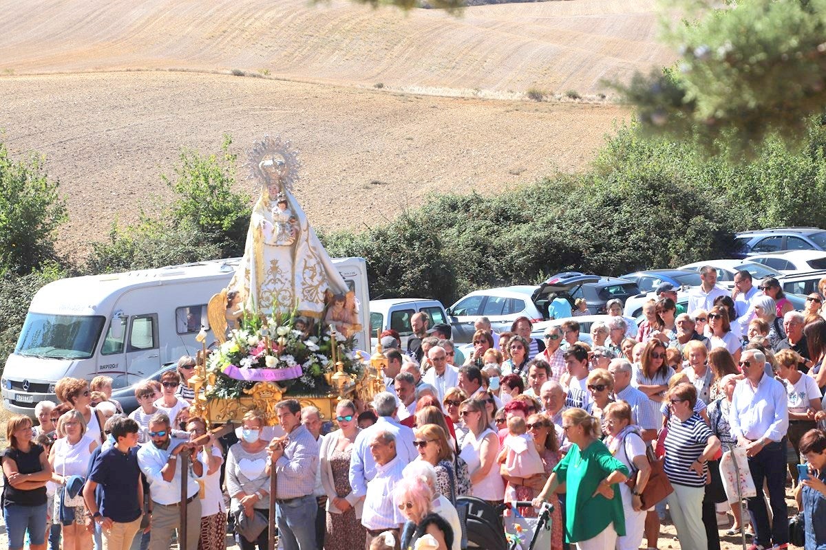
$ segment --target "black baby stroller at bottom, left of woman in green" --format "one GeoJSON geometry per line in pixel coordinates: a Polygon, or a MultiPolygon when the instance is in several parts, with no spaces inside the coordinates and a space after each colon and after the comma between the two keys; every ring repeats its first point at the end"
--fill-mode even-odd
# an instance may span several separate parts
{"type": "MultiPolygon", "coordinates": [[[[468,548],[483,548],[484,550],[534,550],[534,548],[550,548],[551,512],[553,505],[545,503],[539,511],[538,518],[523,518],[520,522],[527,526],[520,534],[520,538],[511,537],[508,540],[502,513],[515,508],[531,508],[529,501],[510,502],[493,506],[481,499],[472,496],[460,496],[457,508],[464,506],[468,510],[468,548]],[[521,540],[520,540],[521,539],[521,540]]],[[[512,535],[512,533],[511,533],[512,535]]]]}

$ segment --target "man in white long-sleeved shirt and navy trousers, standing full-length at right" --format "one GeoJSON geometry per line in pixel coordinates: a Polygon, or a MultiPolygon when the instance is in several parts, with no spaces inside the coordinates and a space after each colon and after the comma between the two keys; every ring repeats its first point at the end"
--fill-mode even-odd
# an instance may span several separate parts
{"type": "Polygon", "coordinates": [[[773,524],[762,491],[748,500],[748,513],[754,526],[757,548],[789,543],[789,520],[786,510],[786,431],[789,429],[788,395],[786,388],[765,373],[766,355],[758,350],[743,351],[740,368],[746,375],[734,388],[729,407],[731,435],[746,448],[748,469],[754,487],[763,487],[765,480],[773,524]]]}

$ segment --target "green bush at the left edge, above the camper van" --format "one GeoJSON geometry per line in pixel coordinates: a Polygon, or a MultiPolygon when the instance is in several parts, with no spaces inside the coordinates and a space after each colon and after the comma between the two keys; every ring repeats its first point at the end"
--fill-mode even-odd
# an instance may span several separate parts
{"type": "Polygon", "coordinates": [[[0,143],[0,272],[26,275],[57,260],[56,230],[67,219],[66,205],[44,163],[35,153],[16,161],[0,143]]]}

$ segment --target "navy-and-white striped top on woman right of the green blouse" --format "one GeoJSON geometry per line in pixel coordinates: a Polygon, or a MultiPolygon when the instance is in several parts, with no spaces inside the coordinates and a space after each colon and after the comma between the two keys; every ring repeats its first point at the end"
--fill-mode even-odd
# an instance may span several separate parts
{"type": "MultiPolygon", "coordinates": [[[[700,477],[690,468],[691,463],[703,454],[703,449],[712,435],[714,434],[709,426],[696,412],[685,422],[672,416],[668,423],[666,459],[663,465],[668,481],[685,487],[705,487],[707,474],[704,473],[703,477],[700,477]]],[[[703,469],[708,472],[708,466],[704,466],[703,469]]]]}

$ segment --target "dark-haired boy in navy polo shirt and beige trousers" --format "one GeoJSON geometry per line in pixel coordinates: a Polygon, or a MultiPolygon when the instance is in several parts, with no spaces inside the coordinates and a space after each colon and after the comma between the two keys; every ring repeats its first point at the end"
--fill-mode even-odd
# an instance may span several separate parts
{"type": "Polygon", "coordinates": [[[116,444],[103,451],[94,463],[83,498],[89,513],[103,532],[103,548],[129,550],[140,529],[144,488],[138,467],[138,423],[118,418],[112,423],[116,444]],[[101,509],[97,510],[95,488],[103,490],[101,509]]]}

